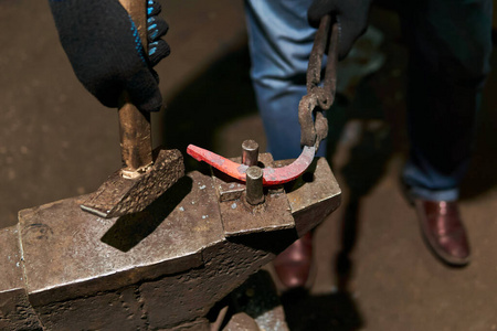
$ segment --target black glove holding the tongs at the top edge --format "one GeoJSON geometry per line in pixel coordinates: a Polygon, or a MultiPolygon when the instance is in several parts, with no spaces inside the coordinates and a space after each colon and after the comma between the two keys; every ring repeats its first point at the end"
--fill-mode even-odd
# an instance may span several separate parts
{"type": "Polygon", "coordinates": [[[309,24],[319,26],[326,14],[334,14],[339,29],[338,57],[343,60],[356,40],[368,28],[368,14],[371,0],[314,0],[307,11],[309,24]]]}

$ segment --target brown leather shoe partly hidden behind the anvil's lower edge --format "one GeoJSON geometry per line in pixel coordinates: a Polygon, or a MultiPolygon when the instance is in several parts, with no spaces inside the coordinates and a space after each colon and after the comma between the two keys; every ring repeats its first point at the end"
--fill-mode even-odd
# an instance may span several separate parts
{"type": "Polygon", "coordinates": [[[313,264],[313,235],[305,234],[273,261],[274,269],[287,289],[306,287],[313,264]]]}

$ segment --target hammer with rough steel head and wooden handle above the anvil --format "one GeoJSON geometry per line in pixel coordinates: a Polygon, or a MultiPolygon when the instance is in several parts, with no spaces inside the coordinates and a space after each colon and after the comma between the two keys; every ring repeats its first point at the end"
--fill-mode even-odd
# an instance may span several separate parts
{"type": "MultiPolygon", "coordinates": [[[[138,29],[147,53],[147,1],[119,2],[138,29]]],[[[81,204],[84,211],[105,218],[141,212],[184,175],[179,150],[152,151],[150,113],[139,110],[126,92],[119,97],[118,116],[123,168],[81,204]]]]}

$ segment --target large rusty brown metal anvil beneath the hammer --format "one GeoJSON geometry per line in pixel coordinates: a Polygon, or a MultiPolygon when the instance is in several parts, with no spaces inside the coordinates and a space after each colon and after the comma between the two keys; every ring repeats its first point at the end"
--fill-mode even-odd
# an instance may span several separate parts
{"type": "Polygon", "coordinates": [[[250,203],[245,184],[193,171],[118,218],[83,212],[86,195],[21,211],[0,229],[0,329],[210,330],[211,308],[324,221],[341,194],[325,158],[261,192],[250,203]]]}

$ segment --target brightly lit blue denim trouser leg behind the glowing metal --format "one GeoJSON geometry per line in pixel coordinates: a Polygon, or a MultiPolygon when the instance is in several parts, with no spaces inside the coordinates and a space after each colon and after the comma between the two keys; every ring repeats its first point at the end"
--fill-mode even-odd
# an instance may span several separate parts
{"type": "MultiPolygon", "coordinates": [[[[298,103],[315,29],[307,23],[309,0],[246,0],[251,76],[268,150],[278,159],[300,154],[298,103]]],[[[324,154],[326,146],[320,147],[324,154]]]]}

